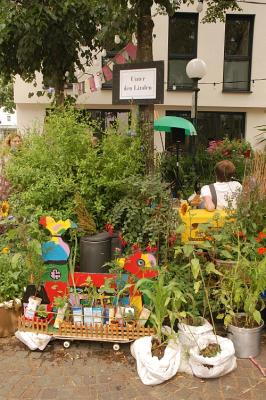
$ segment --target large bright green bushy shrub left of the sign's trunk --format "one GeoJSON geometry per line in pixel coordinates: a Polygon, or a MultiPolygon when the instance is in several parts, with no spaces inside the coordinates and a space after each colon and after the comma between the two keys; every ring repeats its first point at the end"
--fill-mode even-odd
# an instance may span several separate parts
{"type": "Polygon", "coordinates": [[[34,129],[26,136],[7,171],[20,214],[73,218],[79,193],[97,228],[106,222],[121,181],[141,173],[142,154],[138,138],[110,130],[95,146],[92,131],[76,110],[59,109],[47,117],[43,133],[34,129]]]}

